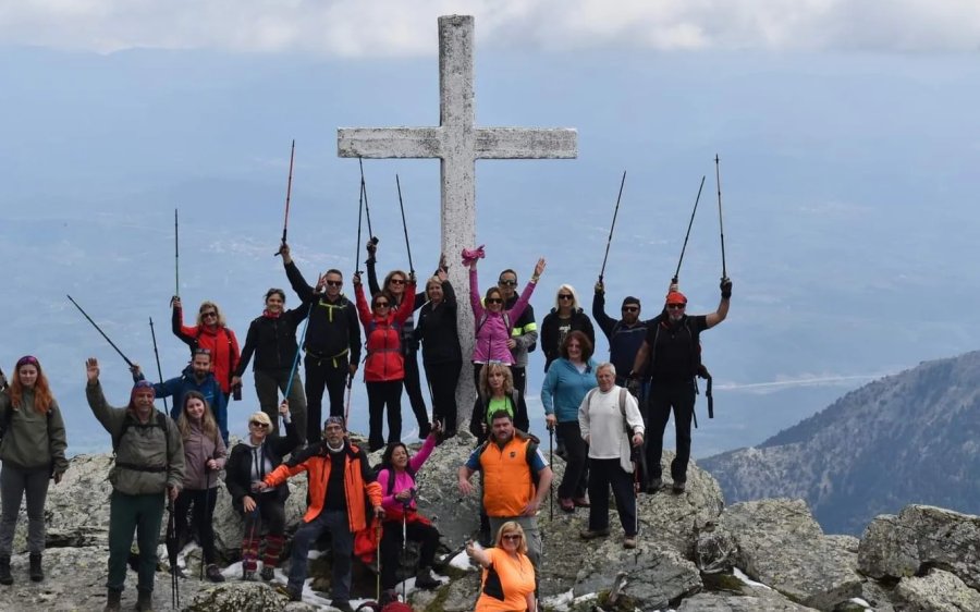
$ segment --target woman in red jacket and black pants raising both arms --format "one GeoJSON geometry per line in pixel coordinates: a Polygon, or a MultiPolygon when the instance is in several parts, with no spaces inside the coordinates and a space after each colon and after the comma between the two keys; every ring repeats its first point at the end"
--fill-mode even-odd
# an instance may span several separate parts
{"type": "MultiPolygon", "coordinates": [[[[388,279],[387,284],[401,286],[401,279],[388,279]]],[[[402,286],[402,292],[405,287],[402,286]]],[[[407,291],[415,293],[415,278],[408,281],[407,291]]],[[[402,353],[402,329],[412,316],[412,299],[396,304],[392,294],[382,291],[371,297],[368,308],[360,274],[354,274],[354,295],[357,314],[364,326],[367,359],[364,363],[364,381],[368,391],[368,450],[375,452],[384,445],[381,417],[388,408],[388,442],[402,439],[402,381],[405,378],[405,358],[402,353]],[[397,306],[397,310],[394,310],[397,306]]],[[[427,426],[428,427],[428,426],[427,426]]]]}

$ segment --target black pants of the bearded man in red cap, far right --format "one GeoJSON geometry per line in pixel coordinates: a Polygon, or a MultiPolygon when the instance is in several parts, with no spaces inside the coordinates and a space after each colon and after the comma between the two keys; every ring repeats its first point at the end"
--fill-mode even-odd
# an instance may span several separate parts
{"type": "Polygon", "coordinates": [[[663,454],[663,433],[674,411],[674,432],[677,455],[671,462],[671,478],[675,482],[687,481],[687,463],[690,461],[690,421],[695,404],[694,380],[685,382],[658,382],[650,385],[647,399],[647,473],[649,478],[660,478],[663,454]]]}

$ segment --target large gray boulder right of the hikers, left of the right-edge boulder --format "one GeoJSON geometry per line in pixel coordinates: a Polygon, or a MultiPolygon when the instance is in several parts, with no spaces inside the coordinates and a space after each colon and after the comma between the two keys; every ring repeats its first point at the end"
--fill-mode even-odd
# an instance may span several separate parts
{"type": "Polygon", "coordinates": [[[794,601],[831,611],[861,592],[856,538],[824,536],[801,500],[735,504],[720,524],[735,534],[738,566],[794,601]]]}

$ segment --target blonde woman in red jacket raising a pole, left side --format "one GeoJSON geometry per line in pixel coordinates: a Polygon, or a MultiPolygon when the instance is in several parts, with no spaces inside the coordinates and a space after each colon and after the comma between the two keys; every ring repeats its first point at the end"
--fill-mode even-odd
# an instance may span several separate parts
{"type": "MultiPolygon", "coordinates": [[[[171,306],[173,315],[170,322],[173,334],[191,347],[192,354],[195,348],[207,348],[211,352],[211,371],[215,372],[215,379],[221,387],[221,392],[224,393],[224,404],[228,405],[228,400],[234,391],[232,374],[238,366],[241,353],[238,352],[238,339],[235,338],[235,332],[228,327],[224,313],[213,302],[201,302],[197,309],[196,325],[186,327],[180,295],[171,298],[171,306]]],[[[235,394],[235,399],[241,400],[241,395],[235,394]]],[[[225,436],[226,428],[226,425],[222,428],[222,436],[225,436]]],[[[225,442],[228,442],[226,437],[225,442]]]]}

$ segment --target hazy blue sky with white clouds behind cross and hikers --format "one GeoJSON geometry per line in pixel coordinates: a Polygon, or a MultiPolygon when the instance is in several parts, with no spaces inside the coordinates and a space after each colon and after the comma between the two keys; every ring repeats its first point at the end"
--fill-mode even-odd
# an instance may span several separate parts
{"type": "MultiPolygon", "coordinates": [[[[526,279],[546,256],[539,322],[562,282],[589,308],[624,170],[610,307],[633,294],[656,311],[707,175],[681,279],[691,311],[712,310],[720,156],[735,287],[728,320],[702,339],[718,414],[708,423],[701,404],[697,456],[976,347],[976,3],[23,2],[0,9],[0,367],[40,358],[75,451],[109,446],[81,393],[84,358],[103,363],[110,401],[124,404],[128,383],[64,294],[145,368],[152,317],[175,376],[177,208],[182,296],[217,301],[244,339],[265,291],[286,284],[271,253],[293,138],[294,255],[307,278],[350,274],[359,174],[335,130],[438,122],[436,20],[449,13],[476,17],[480,125],[578,130],[576,160],[477,166],[482,282],[506,267],[526,279]]],[[[365,171],[380,267],[406,265],[399,173],[428,270],[438,164],[365,171]]],[[[538,353],[531,395],[541,378],[538,353]]],[[[233,433],[255,407],[249,384],[233,433]]],[[[363,400],[358,385],[355,427],[363,400]]]]}

